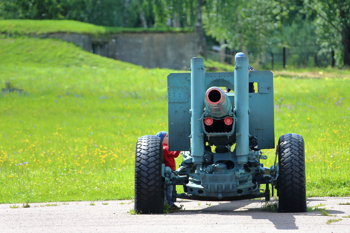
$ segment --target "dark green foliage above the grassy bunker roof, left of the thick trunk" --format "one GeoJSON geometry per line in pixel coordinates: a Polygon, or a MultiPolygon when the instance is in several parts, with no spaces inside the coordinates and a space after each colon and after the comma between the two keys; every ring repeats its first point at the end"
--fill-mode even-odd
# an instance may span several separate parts
{"type": "Polygon", "coordinates": [[[0,19],[77,20],[112,27],[192,27],[189,0],[0,0],[0,19]]]}

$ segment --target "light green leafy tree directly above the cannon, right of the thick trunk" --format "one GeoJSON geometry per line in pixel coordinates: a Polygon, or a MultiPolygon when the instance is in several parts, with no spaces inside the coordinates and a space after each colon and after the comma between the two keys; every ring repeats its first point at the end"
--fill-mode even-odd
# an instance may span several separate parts
{"type": "Polygon", "coordinates": [[[274,0],[212,0],[204,7],[204,28],[217,41],[225,40],[230,49],[266,54],[266,37],[279,26],[281,12],[274,0]]]}

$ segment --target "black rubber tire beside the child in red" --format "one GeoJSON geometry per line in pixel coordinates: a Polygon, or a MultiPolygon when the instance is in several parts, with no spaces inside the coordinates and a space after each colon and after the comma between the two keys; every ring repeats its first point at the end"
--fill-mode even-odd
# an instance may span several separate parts
{"type": "Polygon", "coordinates": [[[160,138],[154,135],[139,137],[135,150],[136,213],[162,213],[164,204],[164,161],[160,138]]]}

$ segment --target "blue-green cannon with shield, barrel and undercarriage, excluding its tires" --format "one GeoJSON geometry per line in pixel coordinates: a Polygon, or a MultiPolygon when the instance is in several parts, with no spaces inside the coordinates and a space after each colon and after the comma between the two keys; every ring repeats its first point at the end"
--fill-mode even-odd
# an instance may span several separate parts
{"type": "MultiPolygon", "coordinates": [[[[191,148],[176,170],[178,175],[188,177],[184,198],[268,195],[260,192],[260,184],[271,183],[272,175],[262,167],[257,150],[274,148],[271,72],[248,74],[248,58],[243,53],[236,58],[234,72],[205,73],[203,58],[193,58],[191,74],[168,75],[168,116],[169,149],[191,148]],[[256,93],[248,93],[249,82],[258,83],[256,93]],[[219,88],[224,87],[234,92],[223,93],[219,88]],[[211,90],[215,90],[214,99],[208,103],[205,93],[211,90]],[[254,151],[249,140],[257,140],[254,151]],[[212,145],[216,146],[215,152],[212,145]]],[[[181,179],[178,181],[176,184],[183,184],[181,179]]]]}

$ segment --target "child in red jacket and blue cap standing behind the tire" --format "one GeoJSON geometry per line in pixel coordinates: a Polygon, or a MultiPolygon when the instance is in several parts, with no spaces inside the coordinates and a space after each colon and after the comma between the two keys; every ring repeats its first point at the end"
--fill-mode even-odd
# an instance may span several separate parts
{"type": "MultiPolygon", "coordinates": [[[[169,134],[166,131],[160,131],[155,136],[160,137],[160,140],[163,143],[165,166],[170,167],[173,171],[176,170],[175,158],[179,156],[180,151],[169,151],[169,134]]],[[[170,205],[170,210],[180,210],[182,207],[176,206],[172,201],[172,193],[173,185],[166,185],[165,195],[167,198],[167,202],[170,205]]]]}

